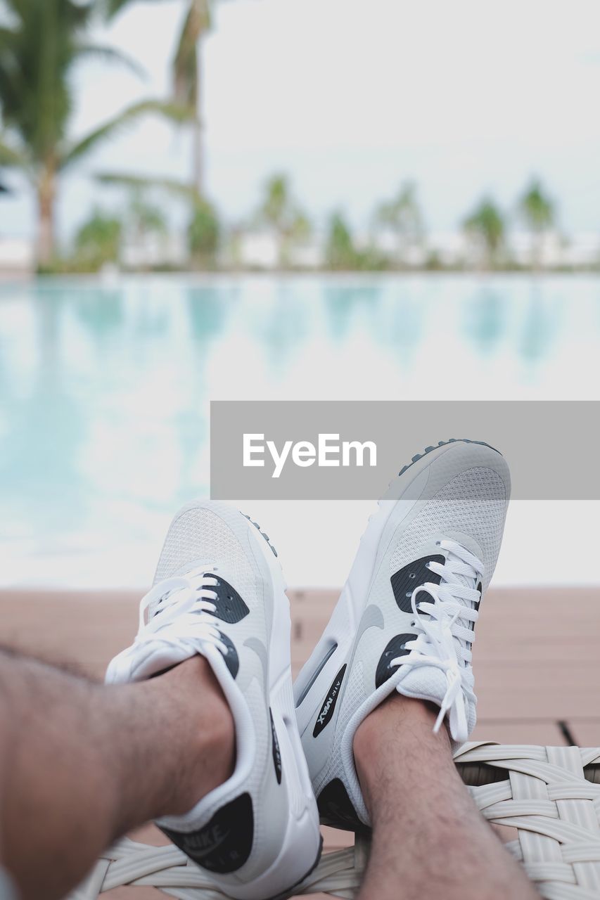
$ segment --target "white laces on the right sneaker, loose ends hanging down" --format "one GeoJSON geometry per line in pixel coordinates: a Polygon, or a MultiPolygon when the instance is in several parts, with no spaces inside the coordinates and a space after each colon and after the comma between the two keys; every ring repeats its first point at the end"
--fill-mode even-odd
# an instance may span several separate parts
{"type": "Polygon", "coordinates": [[[469,649],[475,633],[461,622],[477,622],[478,610],[470,604],[480,599],[476,585],[481,580],[484,565],[456,541],[441,541],[440,547],[447,553],[446,562],[429,563],[428,568],[441,575],[441,583],[427,581],[414,589],[411,605],[417,636],[405,644],[411,652],[410,657],[398,656],[391,665],[407,665],[411,669],[433,666],[444,673],[446,693],[441,700],[433,731],[440,730],[448,713],[452,738],[464,743],[468,740],[466,703],[475,702],[472,653],[469,649]],[[473,587],[467,587],[459,576],[472,582],[473,587]],[[423,602],[419,599],[422,593],[432,600],[423,602]]]}

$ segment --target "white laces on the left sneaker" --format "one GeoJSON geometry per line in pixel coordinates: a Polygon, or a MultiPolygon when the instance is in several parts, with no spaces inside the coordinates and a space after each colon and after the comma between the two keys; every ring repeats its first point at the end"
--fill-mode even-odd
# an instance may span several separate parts
{"type": "Polygon", "coordinates": [[[114,675],[129,671],[131,661],[141,647],[151,642],[168,644],[175,655],[177,651],[186,653],[190,646],[202,652],[206,644],[213,644],[227,653],[217,620],[212,615],[216,610],[212,601],[217,598],[212,589],[218,584],[214,571],[215,568],[197,569],[159,581],[149,590],[141,599],[138,634],[133,644],[111,663],[114,675]],[[159,604],[159,608],[146,621],[146,612],[153,604],[159,604]]]}

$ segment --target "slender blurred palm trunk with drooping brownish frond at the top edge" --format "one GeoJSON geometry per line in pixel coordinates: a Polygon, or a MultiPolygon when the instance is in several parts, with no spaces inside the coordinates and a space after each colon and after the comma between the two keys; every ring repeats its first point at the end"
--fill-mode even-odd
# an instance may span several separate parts
{"type": "MultiPolygon", "coordinates": [[[[109,18],[136,0],[105,0],[109,18]]],[[[205,193],[204,121],[202,115],[202,39],[212,26],[214,0],[186,0],[188,4],[173,59],[173,98],[192,112],[194,130],[193,181],[195,191],[205,193]]]]}

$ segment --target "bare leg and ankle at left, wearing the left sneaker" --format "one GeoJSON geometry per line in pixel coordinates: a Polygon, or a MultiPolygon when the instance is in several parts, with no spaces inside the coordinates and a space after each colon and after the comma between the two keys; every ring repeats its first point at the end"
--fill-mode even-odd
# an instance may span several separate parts
{"type": "Polygon", "coordinates": [[[196,656],[105,687],[0,651],[0,861],[23,900],[64,896],[135,825],[232,773],[230,708],[196,656]]]}

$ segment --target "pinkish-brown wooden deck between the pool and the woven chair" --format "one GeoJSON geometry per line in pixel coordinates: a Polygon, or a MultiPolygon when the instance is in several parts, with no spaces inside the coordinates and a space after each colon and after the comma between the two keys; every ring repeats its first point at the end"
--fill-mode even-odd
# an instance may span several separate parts
{"type": "MultiPolygon", "coordinates": [[[[329,590],[291,590],[292,664],[298,671],[323,631],[329,590]]],[[[131,592],[0,592],[0,644],[102,676],[131,642],[138,596],[131,592]],[[51,618],[50,618],[51,610],[51,618]],[[51,627],[50,627],[51,622],[51,627]]],[[[600,746],[600,590],[490,590],[477,623],[474,740],[600,746]]],[[[164,842],[152,826],[141,839],[164,842]]],[[[352,835],[323,829],[325,849],[352,835]]],[[[158,900],[153,888],[119,888],[111,900],[158,900]]]]}

